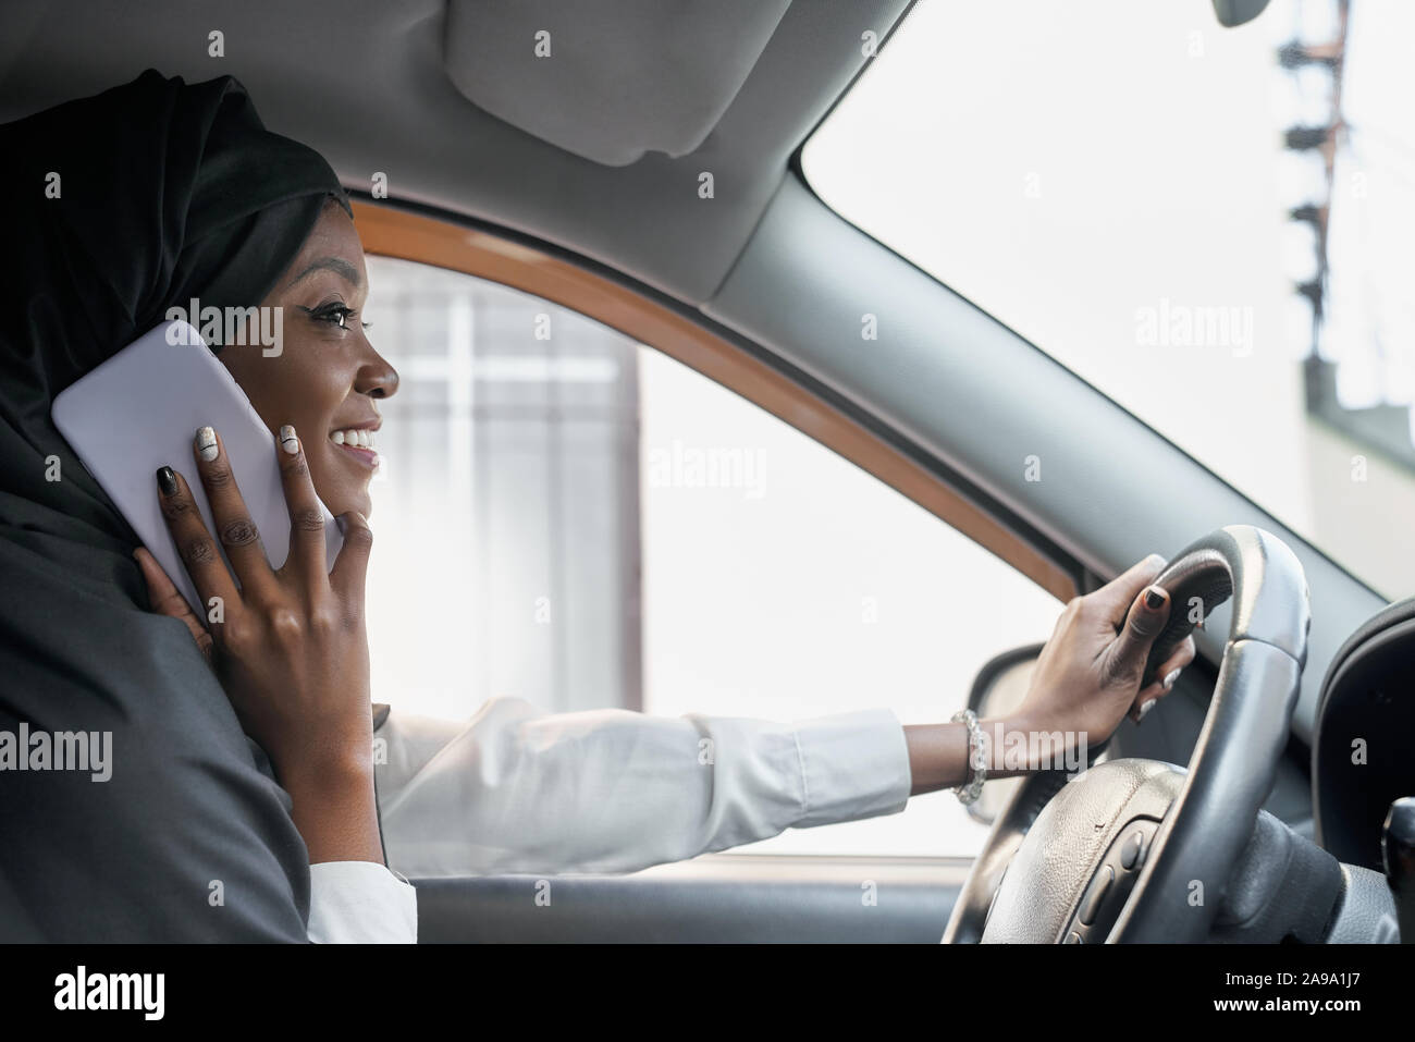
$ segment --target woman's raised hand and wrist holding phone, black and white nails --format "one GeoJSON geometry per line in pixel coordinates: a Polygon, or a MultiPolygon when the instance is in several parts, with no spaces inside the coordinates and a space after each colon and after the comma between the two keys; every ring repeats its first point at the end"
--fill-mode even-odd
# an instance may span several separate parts
{"type": "Polygon", "coordinates": [[[266,558],[219,436],[211,428],[197,432],[197,473],[235,576],[187,481],[171,467],[157,471],[163,517],[208,607],[208,624],[192,616],[151,554],[134,556],[154,610],[187,623],[246,733],[270,756],[310,862],[382,864],[364,620],[374,535],[357,511],[341,514],[344,546],[330,571],[324,517],[293,428],[282,428],[276,453],[290,513],[290,555],[279,569],[266,558]]]}

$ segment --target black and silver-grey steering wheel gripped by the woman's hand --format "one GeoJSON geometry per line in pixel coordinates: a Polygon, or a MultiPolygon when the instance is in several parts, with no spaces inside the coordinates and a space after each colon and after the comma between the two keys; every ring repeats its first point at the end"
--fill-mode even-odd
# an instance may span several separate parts
{"type": "Polygon", "coordinates": [[[1307,583],[1288,545],[1249,525],[1190,544],[1155,583],[1170,595],[1170,616],[1146,675],[1199,619],[1234,599],[1187,770],[1122,759],[1070,780],[1027,776],[974,862],[944,943],[1208,936],[1288,743],[1312,624],[1307,583]]]}

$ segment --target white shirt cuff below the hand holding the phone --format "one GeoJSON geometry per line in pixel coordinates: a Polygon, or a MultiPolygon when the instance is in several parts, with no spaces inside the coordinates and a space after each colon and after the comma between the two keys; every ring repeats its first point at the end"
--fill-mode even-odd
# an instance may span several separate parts
{"type": "Polygon", "coordinates": [[[317,944],[413,944],[417,893],[374,861],[310,865],[310,940],[317,944]]]}

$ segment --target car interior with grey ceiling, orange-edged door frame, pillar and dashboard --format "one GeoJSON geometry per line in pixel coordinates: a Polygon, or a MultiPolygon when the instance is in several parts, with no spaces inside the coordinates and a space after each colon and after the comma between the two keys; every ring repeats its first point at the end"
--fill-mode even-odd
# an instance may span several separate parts
{"type": "MultiPolygon", "coordinates": [[[[1071,783],[1046,772],[989,790],[976,857],[727,851],[559,878],[553,917],[525,876],[417,879],[420,941],[1415,937],[1415,818],[1392,811],[1415,796],[1415,599],[1373,589],[807,178],[807,142],[927,3],[150,0],[139,18],[68,0],[0,13],[0,119],[149,67],[232,72],[269,127],[335,167],[371,256],[499,283],[652,345],[1058,603],[1159,549],[1173,603],[1196,609],[1156,641],[1199,648],[1159,723],[1122,722],[1071,783]],[[573,59],[542,61],[546,48],[573,59]],[[862,316],[879,320],[869,350],[862,316]],[[1037,446],[1056,477],[1029,477],[1037,446]],[[1196,878],[1227,883],[1187,915],[1196,878]],[[862,903],[862,881],[886,896],[862,903]]],[[[1265,6],[1197,8],[1218,34],[1272,16],[1265,6]]],[[[995,603],[985,589],[952,596],[995,603]]],[[[969,705],[983,715],[1016,698],[1040,647],[990,661],[969,705]]]]}

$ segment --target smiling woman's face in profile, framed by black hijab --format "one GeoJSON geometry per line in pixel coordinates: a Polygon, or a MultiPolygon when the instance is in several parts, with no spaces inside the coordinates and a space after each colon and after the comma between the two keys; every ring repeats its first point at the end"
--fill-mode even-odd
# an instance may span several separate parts
{"type": "Polygon", "coordinates": [[[216,355],[272,435],[294,428],[314,491],[333,514],[372,511],[376,452],[355,447],[382,420],[378,399],[398,389],[398,372],[368,343],[359,313],[368,270],[354,221],[333,200],[262,307],[283,310],[279,354],[228,344],[216,355]],[[341,443],[342,442],[342,443],[341,443]]]}

